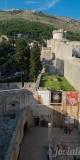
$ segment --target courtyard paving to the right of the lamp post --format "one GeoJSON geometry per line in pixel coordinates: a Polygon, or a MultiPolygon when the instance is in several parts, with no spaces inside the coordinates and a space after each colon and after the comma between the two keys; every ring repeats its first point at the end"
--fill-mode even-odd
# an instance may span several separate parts
{"type": "MultiPolygon", "coordinates": [[[[71,134],[65,134],[63,130],[61,131],[59,128],[54,128],[52,131],[52,139],[53,139],[54,146],[55,145],[57,146],[57,144],[58,144],[60,146],[60,149],[62,149],[61,142],[63,144],[65,144],[65,146],[67,146],[69,148],[69,153],[71,153],[72,149],[74,149],[75,151],[76,151],[76,149],[78,149],[78,151],[80,150],[80,135],[79,135],[76,128],[73,129],[71,134]]],[[[80,155],[80,151],[79,151],[79,155],[80,155]]],[[[80,157],[79,155],[77,155],[76,157],[79,158],[80,157]]],[[[57,155],[53,159],[55,159],[55,160],[72,160],[73,155],[67,155],[67,154],[66,155],[57,155]]]]}

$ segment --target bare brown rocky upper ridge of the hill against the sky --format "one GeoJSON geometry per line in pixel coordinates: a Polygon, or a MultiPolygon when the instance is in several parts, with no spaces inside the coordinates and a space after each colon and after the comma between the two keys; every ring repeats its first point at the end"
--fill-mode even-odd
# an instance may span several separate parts
{"type": "Polygon", "coordinates": [[[54,26],[54,28],[63,28],[67,31],[80,32],[80,20],[45,14],[41,11],[33,10],[1,10],[0,20],[20,19],[25,21],[35,21],[54,26]]]}

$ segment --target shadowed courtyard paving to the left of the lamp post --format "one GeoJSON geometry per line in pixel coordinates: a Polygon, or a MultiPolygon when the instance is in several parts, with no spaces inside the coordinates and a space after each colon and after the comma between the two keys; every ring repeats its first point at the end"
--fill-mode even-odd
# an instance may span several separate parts
{"type": "Polygon", "coordinates": [[[19,160],[47,160],[48,128],[32,127],[22,143],[19,160]]]}

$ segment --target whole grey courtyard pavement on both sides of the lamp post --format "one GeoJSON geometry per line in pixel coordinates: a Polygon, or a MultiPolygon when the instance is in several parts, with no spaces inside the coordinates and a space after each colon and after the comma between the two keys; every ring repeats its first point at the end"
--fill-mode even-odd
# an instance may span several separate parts
{"type": "MultiPolygon", "coordinates": [[[[52,128],[52,139],[54,146],[61,142],[65,143],[71,149],[80,147],[80,135],[76,128],[71,134],[65,134],[60,128],[52,128]]],[[[47,160],[47,143],[48,143],[48,128],[31,127],[22,143],[18,160],[47,160]]],[[[77,156],[79,157],[79,155],[77,156]]],[[[72,160],[72,155],[57,155],[55,160],[72,160]]]]}

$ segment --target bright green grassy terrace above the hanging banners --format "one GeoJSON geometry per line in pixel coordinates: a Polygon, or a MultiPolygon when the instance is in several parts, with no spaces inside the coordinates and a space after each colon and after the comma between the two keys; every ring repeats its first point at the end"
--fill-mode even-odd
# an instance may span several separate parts
{"type": "Polygon", "coordinates": [[[41,77],[40,87],[52,88],[55,90],[75,91],[75,88],[64,76],[44,75],[41,77]]]}

